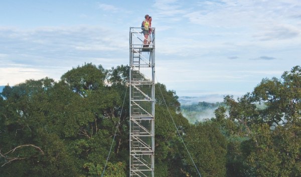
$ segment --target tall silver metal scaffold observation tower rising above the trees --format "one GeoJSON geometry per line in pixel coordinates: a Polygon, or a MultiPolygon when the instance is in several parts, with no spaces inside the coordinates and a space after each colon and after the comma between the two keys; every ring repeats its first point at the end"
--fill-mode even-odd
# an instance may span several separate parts
{"type": "Polygon", "coordinates": [[[129,29],[130,176],[154,176],[155,28],[143,46],[141,27],[129,29]]]}

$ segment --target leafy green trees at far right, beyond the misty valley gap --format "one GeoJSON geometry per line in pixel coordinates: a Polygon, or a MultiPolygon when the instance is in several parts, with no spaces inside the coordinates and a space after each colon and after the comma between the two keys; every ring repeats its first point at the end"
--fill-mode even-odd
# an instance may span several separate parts
{"type": "Polygon", "coordinates": [[[300,66],[224,102],[229,112],[219,107],[214,121],[228,141],[228,176],[300,176],[300,66]]]}

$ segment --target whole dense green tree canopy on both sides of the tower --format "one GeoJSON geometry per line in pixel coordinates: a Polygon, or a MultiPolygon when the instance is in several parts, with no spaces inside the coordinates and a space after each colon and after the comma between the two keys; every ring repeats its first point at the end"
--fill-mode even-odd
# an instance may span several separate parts
{"type": "MultiPolygon", "coordinates": [[[[128,70],[87,63],[58,82],[7,85],[0,176],[99,176],[119,118],[104,176],[128,176],[128,70]]],[[[198,176],[190,155],[202,176],[299,176],[300,85],[296,66],[237,100],[226,96],[215,118],[191,124],[179,113],[176,92],[157,83],[155,176],[198,176]]]]}

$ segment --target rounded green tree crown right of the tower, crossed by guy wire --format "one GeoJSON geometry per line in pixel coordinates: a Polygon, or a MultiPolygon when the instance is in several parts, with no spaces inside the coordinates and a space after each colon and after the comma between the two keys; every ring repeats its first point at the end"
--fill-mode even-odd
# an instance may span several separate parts
{"type": "MultiPolygon", "coordinates": [[[[226,138],[218,126],[211,122],[197,123],[187,129],[185,142],[202,176],[225,176],[226,138]]],[[[198,176],[192,161],[186,154],[193,176],[198,176]]]]}

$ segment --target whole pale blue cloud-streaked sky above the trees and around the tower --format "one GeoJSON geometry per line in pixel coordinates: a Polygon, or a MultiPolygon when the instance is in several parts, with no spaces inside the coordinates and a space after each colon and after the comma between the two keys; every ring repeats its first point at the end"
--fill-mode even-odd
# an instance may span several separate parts
{"type": "Polygon", "coordinates": [[[242,95],[301,63],[300,0],[1,0],[0,85],[128,64],[128,32],[156,27],[158,81],[179,96],[242,95]]]}

